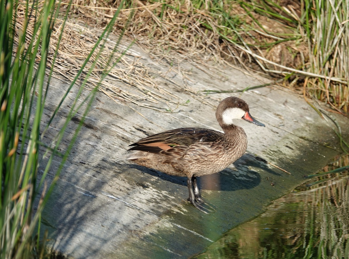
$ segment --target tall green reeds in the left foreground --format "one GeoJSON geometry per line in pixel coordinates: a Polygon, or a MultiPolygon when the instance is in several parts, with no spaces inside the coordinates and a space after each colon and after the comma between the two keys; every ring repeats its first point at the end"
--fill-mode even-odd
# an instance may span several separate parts
{"type": "MultiPolygon", "coordinates": [[[[120,8],[122,6],[123,1],[120,8]]],[[[54,112],[47,115],[50,113],[45,110],[50,80],[70,10],[69,5],[61,13],[60,7],[61,2],[54,0],[0,0],[1,258],[46,256],[45,236],[40,236],[41,212],[79,134],[99,83],[119,61],[119,58],[110,56],[103,63],[99,83],[81,101],[81,93],[91,71],[98,66],[97,60],[113,29],[118,9],[70,86],[62,89],[62,96],[58,97],[61,100],[54,112]],[[51,43],[53,34],[59,35],[55,45],[51,43]],[[77,91],[73,91],[80,76],[84,77],[84,81],[77,91]],[[72,92],[75,99],[67,111],[62,103],[72,92]],[[59,117],[58,113],[64,116],[59,117]],[[67,134],[73,117],[79,117],[79,125],[67,134]],[[49,127],[58,129],[53,139],[45,137],[49,127]],[[61,145],[67,136],[70,136],[68,145],[61,145]],[[53,159],[59,164],[52,166],[53,159]],[[46,180],[48,173],[54,175],[51,182],[46,180]]]]}

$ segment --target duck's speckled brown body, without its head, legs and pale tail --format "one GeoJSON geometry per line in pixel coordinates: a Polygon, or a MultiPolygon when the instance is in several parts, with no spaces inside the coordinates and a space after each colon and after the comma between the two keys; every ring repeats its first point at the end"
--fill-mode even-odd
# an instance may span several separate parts
{"type": "Polygon", "coordinates": [[[236,125],[232,125],[230,130],[228,136],[210,129],[169,130],[141,139],[132,144],[133,147],[129,150],[138,150],[134,154],[143,156],[132,159],[138,165],[169,175],[192,177],[214,174],[229,166],[246,151],[245,131],[236,125]],[[166,143],[169,149],[147,146],[159,143],[166,143]]]}

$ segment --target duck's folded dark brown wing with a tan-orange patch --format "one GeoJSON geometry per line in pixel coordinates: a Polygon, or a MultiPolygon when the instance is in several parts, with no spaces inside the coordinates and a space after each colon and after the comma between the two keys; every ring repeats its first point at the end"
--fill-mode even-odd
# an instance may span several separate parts
{"type": "Polygon", "coordinates": [[[155,135],[138,140],[131,144],[129,150],[159,153],[166,152],[177,155],[183,154],[194,144],[211,144],[222,137],[222,133],[201,128],[180,128],[164,131],[155,135]]]}

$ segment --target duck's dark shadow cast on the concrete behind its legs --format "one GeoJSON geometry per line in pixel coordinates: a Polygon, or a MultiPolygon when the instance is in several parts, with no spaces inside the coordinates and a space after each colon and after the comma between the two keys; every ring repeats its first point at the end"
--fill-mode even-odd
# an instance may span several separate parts
{"type": "MultiPolygon", "coordinates": [[[[157,176],[165,181],[186,186],[187,178],[180,176],[171,176],[161,173],[154,169],[139,165],[128,165],[130,168],[140,170],[143,173],[157,176]]],[[[269,173],[275,174],[270,170],[265,163],[255,159],[252,155],[245,154],[242,158],[235,162],[236,170],[226,168],[217,174],[204,175],[198,177],[200,189],[204,190],[220,190],[220,191],[235,191],[240,189],[251,189],[258,186],[261,181],[261,176],[258,172],[249,169],[249,167],[261,168],[269,173]]]]}

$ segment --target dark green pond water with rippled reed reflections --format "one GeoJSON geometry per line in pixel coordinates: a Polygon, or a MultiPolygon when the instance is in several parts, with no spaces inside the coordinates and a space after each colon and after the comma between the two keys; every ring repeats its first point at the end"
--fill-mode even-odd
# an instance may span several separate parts
{"type": "MultiPolygon", "coordinates": [[[[341,157],[324,170],[348,160],[341,157]]],[[[312,178],[195,258],[349,258],[348,170],[312,178]]]]}

